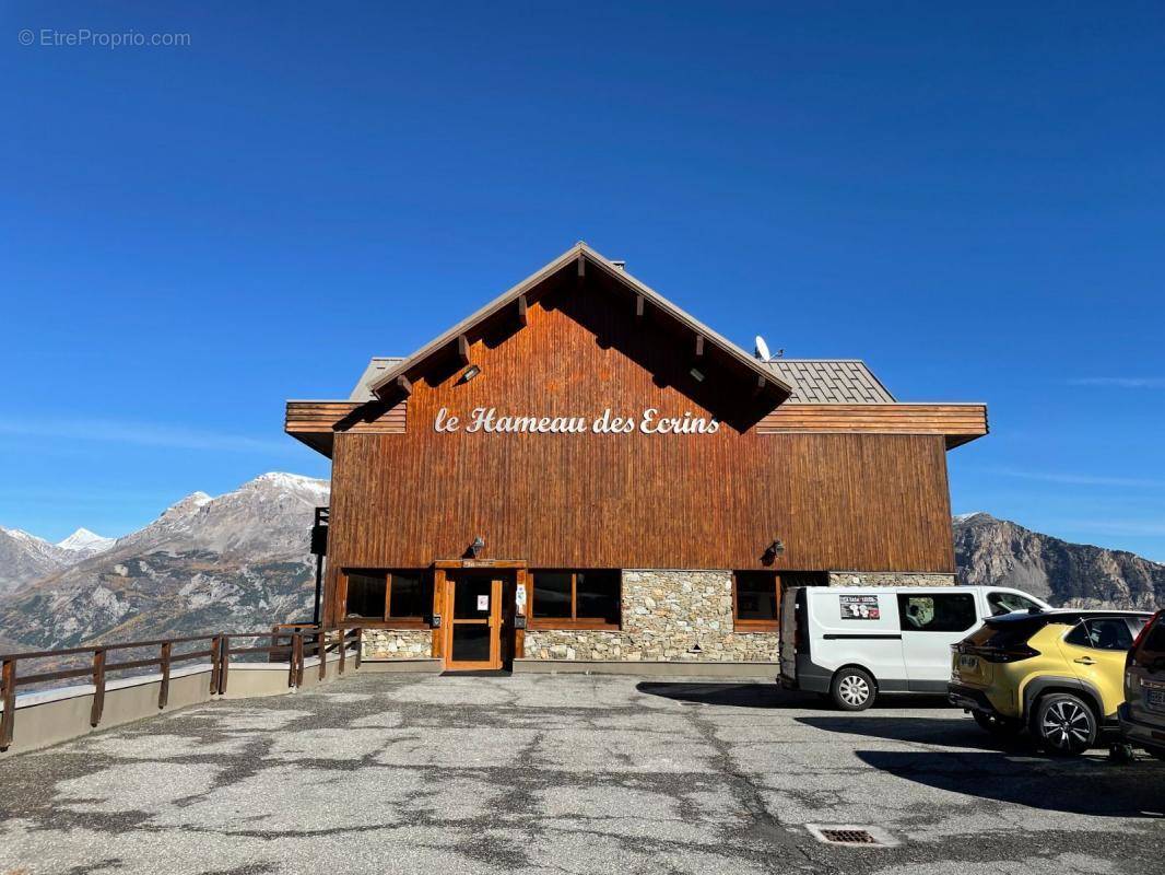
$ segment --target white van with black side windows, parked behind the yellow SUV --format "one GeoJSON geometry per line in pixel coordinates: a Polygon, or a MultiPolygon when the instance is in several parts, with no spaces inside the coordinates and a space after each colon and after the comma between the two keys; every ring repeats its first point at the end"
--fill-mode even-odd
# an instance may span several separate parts
{"type": "Polygon", "coordinates": [[[983,620],[1051,610],[1005,587],[795,587],[781,608],[781,684],[862,710],[877,693],[946,693],[951,645],[983,620]]]}

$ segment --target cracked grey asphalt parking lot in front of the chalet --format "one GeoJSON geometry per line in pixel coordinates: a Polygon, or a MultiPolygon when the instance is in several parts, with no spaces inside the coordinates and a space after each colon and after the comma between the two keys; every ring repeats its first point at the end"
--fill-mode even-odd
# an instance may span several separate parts
{"type": "Polygon", "coordinates": [[[846,714],[771,684],[366,673],[0,762],[0,875],[1148,875],[1163,813],[1165,763],[1001,747],[937,700],[846,714]]]}

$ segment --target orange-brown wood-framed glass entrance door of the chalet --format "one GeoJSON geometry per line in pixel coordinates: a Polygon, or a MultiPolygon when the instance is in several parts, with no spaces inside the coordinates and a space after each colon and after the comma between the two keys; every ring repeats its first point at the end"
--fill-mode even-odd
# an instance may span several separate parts
{"type": "Polygon", "coordinates": [[[445,668],[501,668],[502,582],[481,574],[450,574],[445,600],[445,668]]]}

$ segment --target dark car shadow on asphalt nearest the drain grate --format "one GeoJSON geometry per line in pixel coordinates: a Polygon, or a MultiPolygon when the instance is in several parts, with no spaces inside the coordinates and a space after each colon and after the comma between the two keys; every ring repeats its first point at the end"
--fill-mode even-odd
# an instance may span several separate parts
{"type": "Polygon", "coordinates": [[[1094,757],[1017,762],[1003,752],[857,750],[859,760],[916,784],[1044,811],[1162,820],[1165,768],[1094,757]]]}

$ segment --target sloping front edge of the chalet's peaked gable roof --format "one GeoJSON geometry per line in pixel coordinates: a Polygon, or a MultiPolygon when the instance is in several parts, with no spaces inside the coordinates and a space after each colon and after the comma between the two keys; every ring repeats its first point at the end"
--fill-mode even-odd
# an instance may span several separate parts
{"type": "MultiPolygon", "coordinates": [[[[429,358],[449,348],[450,344],[454,343],[459,336],[471,331],[490,316],[500,313],[502,309],[513,306],[523,294],[532,290],[538,286],[538,284],[550,276],[553,276],[559,271],[570,267],[572,264],[578,264],[580,270],[584,268],[584,265],[594,266],[603,274],[621,282],[634,294],[642,295],[644,301],[650,302],[654,309],[659,310],[665,316],[686,327],[693,334],[704,337],[705,342],[711,346],[719,348],[730,359],[737,362],[747,369],[747,371],[756,374],[760,386],[763,387],[765,385],[771,385],[785,398],[792,394],[793,387],[786,382],[781,372],[769,368],[767,363],[756,359],[732,341],[713,331],[694,316],[689,315],[658,292],[652,289],[650,286],[627,273],[622,266],[615,265],[603,258],[582,242],[577,243],[553,261],[530,274],[513,288],[503,292],[476,313],[461,320],[456,326],[418,349],[411,356],[396,362],[395,364],[387,364],[383,372],[370,382],[369,387],[372,394],[376,398],[386,398],[387,396],[390,396],[395,391],[398,377],[407,377],[410,372],[417,371],[429,358]]],[[[387,362],[388,359],[384,360],[387,362]]],[[[785,400],[785,398],[782,398],[781,400],[785,400]]]]}

